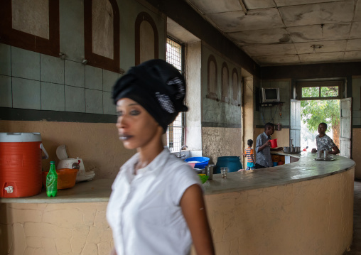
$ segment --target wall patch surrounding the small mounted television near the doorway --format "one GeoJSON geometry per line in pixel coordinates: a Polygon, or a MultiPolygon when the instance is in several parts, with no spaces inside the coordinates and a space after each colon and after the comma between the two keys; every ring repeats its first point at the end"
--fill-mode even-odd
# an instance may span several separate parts
{"type": "Polygon", "coordinates": [[[254,111],[254,124],[257,126],[264,126],[267,122],[271,122],[289,126],[291,80],[262,80],[262,87],[278,87],[280,101],[284,102],[284,104],[281,106],[281,109],[279,105],[274,105],[273,107],[259,107],[259,112],[254,111]]]}

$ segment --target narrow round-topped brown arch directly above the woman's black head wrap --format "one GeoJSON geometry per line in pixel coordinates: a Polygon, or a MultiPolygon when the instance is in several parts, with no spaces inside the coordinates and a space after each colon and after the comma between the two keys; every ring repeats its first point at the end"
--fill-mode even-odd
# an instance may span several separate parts
{"type": "Polygon", "coordinates": [[[135,65],[159,58],[158,30],[153,18],[141,12],[135,22],[135,65]]]}

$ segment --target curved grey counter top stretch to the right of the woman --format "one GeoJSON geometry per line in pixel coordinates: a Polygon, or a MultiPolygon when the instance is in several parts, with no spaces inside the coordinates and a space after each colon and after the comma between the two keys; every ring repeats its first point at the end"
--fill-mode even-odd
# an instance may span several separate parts
{"type": "Polygon", "coordinates": [[[332,155],[335,161],[316,161],[317,153],[272,153],[299,158],[299,161],[272,168],[227,173],[227,179],[222,179],[220,174],[213,175],[213,180],[208,180],[203,184],[205,195],[267,188],[323,178],[345,172],[355,166],[355,161],[338,155],[332,155]]]}

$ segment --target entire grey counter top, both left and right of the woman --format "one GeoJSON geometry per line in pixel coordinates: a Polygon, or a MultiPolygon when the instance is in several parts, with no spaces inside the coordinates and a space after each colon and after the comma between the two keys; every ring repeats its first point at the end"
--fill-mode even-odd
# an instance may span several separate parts
{"type": "MultiPolygon", "coordinates": [[[[333,156],[335,161],[316,161],[316,153],[302,152],[298,154],[276,153],[279,155],[300,158],[298,162],[273,168],[244,170],[227,174],[222,179],[214,174],[213,180],[203,184],[205,195],[225,192],[237,192],[286,185],[315,178],[323,178],[335,173],[342,173],[355,166],[355,161],[342,156],[333,156]]],[[[0,202],[18,203],[72,203],[72,202],[108,202],[113,179],[90,180],[77,183],[73,188],[58,190],[56,197],[47,197],[45,190],[33,197],[0,198],[0,202]]]]}

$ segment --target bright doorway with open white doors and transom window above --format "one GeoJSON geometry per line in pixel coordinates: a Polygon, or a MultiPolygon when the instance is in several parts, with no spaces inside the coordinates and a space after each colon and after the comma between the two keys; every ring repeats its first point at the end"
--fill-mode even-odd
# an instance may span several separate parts
{"type": "Polygon", "coordinates": [[[352,158],[352,98],[345,98],[345,82],[344,79],[296,82],[293,92],[297,99],[291,99],[290,107],[290,140],[293,139],[294,146],[301,146],[301,149],[308,146],[307,151],[316,148],[312,141],[316,141],[318,124],[325,122],[328,124],[326,134],[332,130],[328,136],[340,149],[340,156],[352,158]],[[306,124],[302,132],[301,123],[306,124]],[[309,138],[305,139],[307,134],[309,138]]]}

